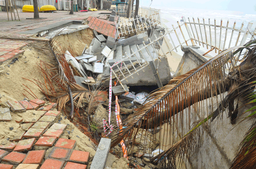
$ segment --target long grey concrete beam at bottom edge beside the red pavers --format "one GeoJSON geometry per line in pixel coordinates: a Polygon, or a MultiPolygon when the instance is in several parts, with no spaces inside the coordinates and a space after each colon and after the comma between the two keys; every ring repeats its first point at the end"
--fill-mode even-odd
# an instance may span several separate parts
{"type": "Polygon", "coordinates": [[[109,154],[111,139],[101,138],[90,169],[104,169],[109,154]]]}

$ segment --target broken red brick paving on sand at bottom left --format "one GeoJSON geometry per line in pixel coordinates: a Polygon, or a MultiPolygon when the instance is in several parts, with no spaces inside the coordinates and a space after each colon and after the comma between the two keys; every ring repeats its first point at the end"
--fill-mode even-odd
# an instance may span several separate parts
{"type": "MultiPolygon", "coordinates": [[[[8,104],[13,112],[35,111],[39,112],[40,116],[36,120],[26,122],[33,125],[26,133],[22,133],[21,138],[16,140],[17,143],[0,144],[0,169],[13,167],[16,169],[86,169],[90,152],[74,150],[76,140],[59,138],[67,125],[57,123],[61,112],[52,111],[56,106],[55,103],[46,104],[45,101],[35,99],[27,103],[8,101],[8,104]],[[51,110],[42,111],[42,107],[37,110],[28,110],[33,107],[30,103],[42,107],[49,106],[51,110]],[[52,147],[50,154],[46,155],[50,147],[52,147]]],[[[35,112],[33,114],[36,116],[35,112]]],[[[0,117],[0,120],[10,121],[6,117],[4,119],[0,117]]]]}

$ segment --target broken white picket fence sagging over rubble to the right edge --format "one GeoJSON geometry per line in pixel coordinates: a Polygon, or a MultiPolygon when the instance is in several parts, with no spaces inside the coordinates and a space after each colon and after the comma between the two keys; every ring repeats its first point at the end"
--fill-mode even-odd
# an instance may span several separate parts
{"type": "MultiPolygon", "coordinates": [[[[145,16],[146,14],[152,15],[152,10],[146,7],[145,8],[142,7],[140,8],[140,14],[145,16]]],[[[161,20],[161,17],[159,18],[161,20]]],[[[230,46],[231,47],[237,46],[237,45],[242,46],[247,41],[255,39],[256,37],[256,28],[252,30],[252,25],[253,25],[252,23],[248,23],[246,29],[243,29],[244,23],[242,23],[240,26],[240,29],[237,29],[236,22],[234,22],[232,27],[228,27],[229,21],[227,21],[227,24],[225,24],[226,26],[223,26],[222,19],[221,19],[220,25],[217,25],[216,20],[214,20],[214,24],[211,24],[210,19],[208,19],[208,23],[206,23],[204,19],[202,19],[203,20],[202,23],[200,22],[199,19],[197,19],[197,22],[195,22],[194,18],[192,18],[193,22],[190,21],[190,18],[188,18],[189,22],[187,22],[185,17],[183,17],[182,19],[183,19],[182,24],[177,22],[178,26],[175,27],[174,25],[172,25],[173,29],[171,30],[167,29],[167,32],[165,34],[163,34],[162,31],[160,31],[161,36],[159,36],[158,38],[156,37],[156,35],[155,37],[151,36],[151,39],[149,38],[149,44],[146,45],[144,43],[143,47],[139,47],[137,45],[137,51],[131,50],[132,53],[130,55],[125,54],[125,57],[123,57],[121,61],[118,61],[112,66],[109,65],[108,63],[109,68],[112,67],[111,71],[114,74],[114,76],[117,78],[117,80],[119,81],[122,87],[123,87],[122,81],[124,80],[127,81],[127,78],[129,77],[133,78],[133,75],[136,73],[139,75],[139,71],[143,70],[146,66],[149,66],[151,61],[156,61],[157,59],[158,61],[161,61],[161,57],[166,56],[168,53],[172,55],[172,51],[175,50],[176,52],[178,52],[177,48],[181,47],[184,44],[186,46],[189,46],[189,45],[195,46],[198,43],[199,46],[201,46],[202,44],[202,46],[206,47],[207,49],[210,47],[211,49],[209,49],[208,52],[214,49],[215,49],[215,52],[217,52],[217,50],[218,52],[221,52],[224,49],[229,48],[230,46]],[[218,29],[220,30],[219,35],[217,35],[218,29]],[[230,37],[227,37],[228,31],[231,31],[230,37]],[[224,37],[224,41],[222,40],[223,37],[224,37]],[[170,39],[171,44],[173,45],[172,49],[168,46],[166,38],[170,39]],[[161,47],[163,42],[166,44],[166,48],[161,47]],[[156,48],[155,48],[156,45],[160,47],[161,54],[160,52],[156,51],[156,48]],[[149,48],[151,47],[154,49],[154,52],[157,54],[157,56],[154,56],[154,53],[152,55],[152,52],[149,52],[149,48]],[[138,59],[137,57],[138,55],[141,57],[141,59],[138,59]],[[128,61],[128,63],[127,62],[125,63],[124,61],[128,61]],[[118,65],[120,62],[123,62],[124,64],[122,68],[120,68],[118,65]],[[118,77],[118,74],[121,76],[118,77]]],[[[129,20],[129,22],[130,21],[131,20],[129,20]]],[[[120,22],[123,23],[123,21],[120,21],[120,22]]],[[[150,28],[152,29],[152,27],[150,28]]],[[[130,30],[130,32],[131,31],[134,31],[134,30],[130,30]]],[[[119,35],[124,33],[126,32],[121,32],[119,33],[119,35]]],[[[156,72],[157,72],[157,68],[156,68],[156,72]]]]}

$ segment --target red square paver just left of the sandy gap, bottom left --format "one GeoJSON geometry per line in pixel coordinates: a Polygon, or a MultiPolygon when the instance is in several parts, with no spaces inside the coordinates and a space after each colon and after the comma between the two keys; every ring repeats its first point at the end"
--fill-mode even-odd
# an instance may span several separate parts
{"type": "Polygon", "coordinates": [[[46,150],[29,151],[22,163],[24,164],[41,164],[46,150]]]}

